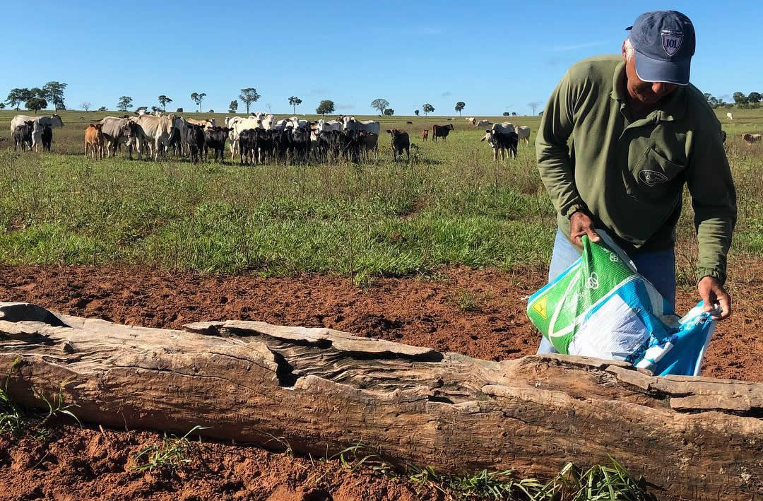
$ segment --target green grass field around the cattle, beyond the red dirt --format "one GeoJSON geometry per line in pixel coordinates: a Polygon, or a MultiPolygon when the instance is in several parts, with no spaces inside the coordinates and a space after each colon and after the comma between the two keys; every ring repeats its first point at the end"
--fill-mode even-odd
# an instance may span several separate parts
{"type": "MultiPolygon", "coordinates": [[[[763,150],[739,137],[763,129],[763,111],[733,112],[729,122],[719,110],[739,195],[732,268],[763,250],[763,150]]],[[[449,123],[444,117],[376,117],[378,161],[242,167],[85,159],[86,124],[118,112],[62,112],[66,127],[54,130],[53,153],[14,154],[9,122],[15,114],[0,112],[2,263],[340,273],[365,283],[448,263],[517,269],[549,261],[555,215],[536,171],[538,117],[509,118],[533,134],[530,146],[520,145],[517,159],[504,163],[493,161],[479,141],[484,131],[463,118],[453,117],[456,130],[435,144],[421,141],[420,131],[449,123]],[[384,131],[392,127],[407,130],[418,146],[410,162],[391,160],[384,131]]],[[[185,116],[221,123],[225,115],[185,116]]],[[[693,282],[691,221],[687,199],[678,246],[684,283],[693,282]]],[[[745,267],[736,268],[744,280],[745,267]]]]}

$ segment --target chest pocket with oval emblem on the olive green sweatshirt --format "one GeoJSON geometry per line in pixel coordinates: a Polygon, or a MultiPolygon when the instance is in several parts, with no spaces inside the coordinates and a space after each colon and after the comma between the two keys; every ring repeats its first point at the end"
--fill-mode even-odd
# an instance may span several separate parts
{"type": "Polygon", "coordinates": [[[683,185],[684,165],[671,162],[648,147],[636,164],[623,173],[627,193],[636,199],[664,200],[679,196],[683,185]]]}

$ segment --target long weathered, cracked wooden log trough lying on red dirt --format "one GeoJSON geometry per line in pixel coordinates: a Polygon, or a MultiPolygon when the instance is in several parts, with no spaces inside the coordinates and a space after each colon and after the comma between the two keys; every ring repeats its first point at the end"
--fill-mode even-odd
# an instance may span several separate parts
{"type": "Polygon", "coordinates": [[[763,498],[763,384],[654,377],[563,355],[494,362],[327,328],[117,325],[0,302],[12,399],[63,389],[85,422],[324,456],[551,477],[568,461],[642,474],[661,499],[763,498]],[[18,357],[22,363],[11,371],[18,357]]]}

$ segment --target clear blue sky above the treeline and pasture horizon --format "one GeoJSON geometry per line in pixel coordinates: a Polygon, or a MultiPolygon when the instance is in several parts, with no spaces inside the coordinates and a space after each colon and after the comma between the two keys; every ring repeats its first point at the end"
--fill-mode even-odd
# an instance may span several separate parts
{"type": "MultiPolygon", "coordinates": [[[[758,2],[6,2],[0,97],[13,87],[69,84],[66,105],[134,105],[227,110],[239,89],[291,113],[332,99],[338,112],[372,114],[373,99],[411,115],[530,112],[545,104],[565,69],[617,53],[642,11],[674,8],[694,22],[691,81],[703,92],[763,92],[758,2]],[[638,4],[634,6],[633,4],[638,4]],[[249,5],[243,7],[242,5],[249,5]],[[617,5],[617,7],[616,7],[617,5]],[[745,13],[747,13],[745,15],[745,13]]],[[[729,98],[726,97],[728,100],[729,98]]],[[[241,111],[241,108],[239,108],[241,111]]]]}

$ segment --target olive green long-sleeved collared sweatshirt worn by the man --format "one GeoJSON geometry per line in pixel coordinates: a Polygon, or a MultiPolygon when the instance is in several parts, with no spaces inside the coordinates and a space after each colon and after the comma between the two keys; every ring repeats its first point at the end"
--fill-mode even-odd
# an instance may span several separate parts
{"type": "Polygon", "coordinates": [[[629,254],[674,246],[684,183],[699,244],[697,280],[726,280],[736,224],[736,190],[720,122],[691,84],[631,121],[625,63],[592,57],[571,66],[543,110],[536,138],[538,170],[559,228],[584,210],[629,254]]]}

